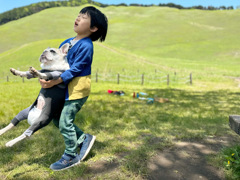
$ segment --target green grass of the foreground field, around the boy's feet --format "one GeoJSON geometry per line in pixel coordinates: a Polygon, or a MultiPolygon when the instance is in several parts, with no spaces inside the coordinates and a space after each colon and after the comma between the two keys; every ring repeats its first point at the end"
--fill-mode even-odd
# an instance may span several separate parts
{"type": "MultiPolygon", "coordinates": [[[[33,102],[40,87],[37,81],[1,83],[0,87],[1,128],[33,102]]],[[[156,150],[172,146],[173,140],[231,134],[228,115],[238,113],[238,96],[235,90],[93,83],[92,94],[76,117],[79,127],[97,136],[87,161],[64,172],[49,170],[64,151],[63,138],[52,123],[30,139],[12,148],[4,147],[24,132],[28,127],[25,121],[1,136],[0,152],[5,154],[0,159],[1,176],[34,179],[37,173],[39,179],[93,178],[91,166],[104,162],[117,164],[118,170],[111,176],[103,171],[98,174],[100,179],[117,175],[122,179],[144,177],[148,173],[147,160],[156,150]],[[107,93],[108,89],[124,90],[126,95],[114,96],[107,93]],[[132,98],[133,92],[141,91],[171,102],[149,105],[132,98]]]]}

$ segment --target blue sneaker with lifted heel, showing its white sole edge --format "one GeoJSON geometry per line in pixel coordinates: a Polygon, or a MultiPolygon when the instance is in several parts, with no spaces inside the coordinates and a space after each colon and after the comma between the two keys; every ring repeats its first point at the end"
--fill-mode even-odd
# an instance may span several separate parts
{"type": "Polygon", "coordinates": [[[90,134],[86,134],[86,137],[82,143],[82,147],[80,149],[80,154],[79,154],[79,157],[80,157],[80,161],[83,161],[88,153],[90,152],[94,142],[95,142],[95,139],[96,139],[96,136],[92,136],[90,134]]]}

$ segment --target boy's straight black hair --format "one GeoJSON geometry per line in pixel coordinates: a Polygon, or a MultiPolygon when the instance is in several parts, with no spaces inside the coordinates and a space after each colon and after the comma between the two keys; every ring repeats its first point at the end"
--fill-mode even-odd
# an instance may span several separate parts
{"type": "Polygon", "coordinates": [[[98,30],[90,35],[92,41],[104,41],[107,35],[108,20],[107,17],[93,6],[87,6],[80,11],[81,14],[87,14],[91,17],[90,27],[97,27],[98,30]]]}

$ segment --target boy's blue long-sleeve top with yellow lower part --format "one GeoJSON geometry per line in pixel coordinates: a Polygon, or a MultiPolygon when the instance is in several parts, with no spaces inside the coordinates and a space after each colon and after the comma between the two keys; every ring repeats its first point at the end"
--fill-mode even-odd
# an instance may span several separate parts
{"type": "MultiPolygon", "coordinates": [[[[60,45],[70,43],[74,37],[66,39],[60,45]]],[[[89,96],[91,89],[91,65],[93,43],[88,37],[80,39],[67,54],[70,69],[61,74],[64,84],[68,85],[65,100],[81,99],[89,96]]]]}

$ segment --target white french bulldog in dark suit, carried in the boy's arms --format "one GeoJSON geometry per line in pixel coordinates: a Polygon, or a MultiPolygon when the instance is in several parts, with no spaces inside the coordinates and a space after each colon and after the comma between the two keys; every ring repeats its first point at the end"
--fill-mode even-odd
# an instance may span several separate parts
{"type": "MultiPolygon", "coordinates": [[[[20,77],[41,78],[45,80],[58,79],[60,75],[67,69],[67,52],[69,44],[64,44],[61,48],[47,48],[41,54],[39,60],[41,62],[41,70],[38,71],[34,67],[30,67],[29,71],[19,71],[11,68],[13,75],[20,77]]],[[[11,147],[17,142],[30,137],[37,130],[48,125],[52,119],[58,120],[65,101],[65,85],[61,83],[52,88],[41,88],[37,99],[28,108],[20,111],[6,127],[0,129],[0,135],[15,127],[20,121],[27,119],[30,124],[29,128],[17,138],[6,143],[7,147],[11,147]]]]}

